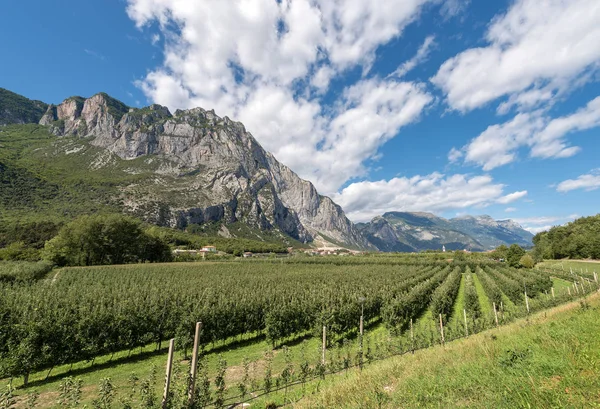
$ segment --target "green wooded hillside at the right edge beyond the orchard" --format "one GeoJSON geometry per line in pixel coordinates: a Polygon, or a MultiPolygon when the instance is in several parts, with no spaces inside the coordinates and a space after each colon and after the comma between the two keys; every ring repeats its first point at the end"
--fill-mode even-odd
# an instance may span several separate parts
{"type": "Polygon", "coordinates": [[[534,258],[600,258],[600,214],[555,226],[533,238],[534,258]]]}

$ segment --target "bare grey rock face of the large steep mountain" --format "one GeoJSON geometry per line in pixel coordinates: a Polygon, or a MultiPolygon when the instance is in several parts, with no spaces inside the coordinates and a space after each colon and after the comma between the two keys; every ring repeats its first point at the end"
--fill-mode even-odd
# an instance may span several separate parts
{"type": "Polygon", "coordinates": [[[214,111],[134,109],[101,93],[50,105],[39,123],[131,160],[132,172],[148,172],[140,159],[159,163],[148,177],[162,184],[161,192],[144,193],[143,182],[123,189],[124,205],[148,221],[172,227],[242,221],[303,242],[326,237],[372,248],[338,205],[266,152],[244,125],[214,111]]]}

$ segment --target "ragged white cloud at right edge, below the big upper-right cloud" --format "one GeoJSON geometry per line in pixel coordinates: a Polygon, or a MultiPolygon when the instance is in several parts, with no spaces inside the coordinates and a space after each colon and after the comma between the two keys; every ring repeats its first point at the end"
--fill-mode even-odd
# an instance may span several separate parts
{"type": "Polygon", "coordinates": [[[535,158],[566,158],[580,148],[569,146],[566,136],[574,131],[600,126],[600,97],[573,114],[550,118],[542,111],[521,113],[512,120],[491,125],[457,152],[452,148],[450,162],[464,155],[465,162],[491,170],[516,160],[518,150],[529,148],[535,158]]]}

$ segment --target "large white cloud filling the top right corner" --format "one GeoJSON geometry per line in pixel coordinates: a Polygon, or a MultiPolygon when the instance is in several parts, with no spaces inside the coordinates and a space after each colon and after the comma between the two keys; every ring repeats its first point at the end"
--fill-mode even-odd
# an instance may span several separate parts
{"type": "Polygon", "coordinates": [[[459,111],[503,96],[501,113],[532,109],[598,72],[599,38],[598,0],[517,0],[492,20],[486,46],[449,59],[432,82],[459,111]]]}

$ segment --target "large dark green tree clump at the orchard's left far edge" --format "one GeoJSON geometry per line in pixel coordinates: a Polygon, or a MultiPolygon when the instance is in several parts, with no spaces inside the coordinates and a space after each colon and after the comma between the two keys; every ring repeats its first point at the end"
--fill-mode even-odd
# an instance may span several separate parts
{"type": "Polygon", "coordinates": [[[169,261],[171,250],[122,215],[82,216],[46,243],[44,257],[60,266],[91,266],[169,261]]]}

